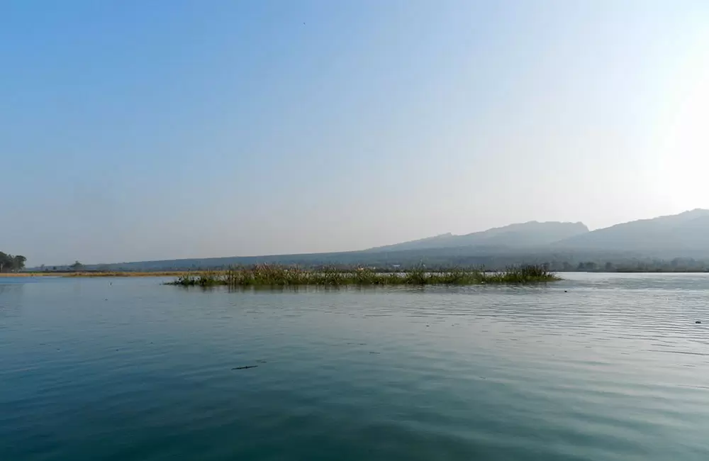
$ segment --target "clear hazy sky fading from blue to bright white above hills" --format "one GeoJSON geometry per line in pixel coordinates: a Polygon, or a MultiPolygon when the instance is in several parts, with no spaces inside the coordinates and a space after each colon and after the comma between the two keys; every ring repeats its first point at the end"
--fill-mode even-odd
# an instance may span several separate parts
{"type": "Polygon", "coordinates": [[[0,250],[355,250],[709,207],[709,1],[0,5],[0,250]]]}

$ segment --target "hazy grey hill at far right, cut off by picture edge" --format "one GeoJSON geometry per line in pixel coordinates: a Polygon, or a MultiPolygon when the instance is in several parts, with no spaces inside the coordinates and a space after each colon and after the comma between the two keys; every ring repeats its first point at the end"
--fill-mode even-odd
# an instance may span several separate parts
{"type": "Polygon", "coordinates": [[[709,255],[709,210],[641,219],[574,235],[553,245],[576,250],[631,251],[649,255],[709,255]]]}

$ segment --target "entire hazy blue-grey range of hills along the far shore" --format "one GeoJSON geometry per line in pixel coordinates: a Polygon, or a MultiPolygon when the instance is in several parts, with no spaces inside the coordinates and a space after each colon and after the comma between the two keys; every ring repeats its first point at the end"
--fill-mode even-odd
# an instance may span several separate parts
{"type": "Polygon", "coordinates": [[[709,210],[621,223],[589,231],[583,223],[510,224],[467,235],[450,233],[369,250],[203,259],[120,262],[88,269],[170,270],[257,263],[317,265],[485,265],[525,262],[628,262],[696,258],[709,261],[709,210]]]}

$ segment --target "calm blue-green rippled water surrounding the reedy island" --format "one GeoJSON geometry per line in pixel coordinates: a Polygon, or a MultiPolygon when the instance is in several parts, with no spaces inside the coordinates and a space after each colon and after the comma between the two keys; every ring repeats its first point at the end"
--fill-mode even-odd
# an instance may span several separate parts
{"type": "Polygon", "coordinates": [[[709,277],[565,277],[0,279],[0,460],[709,460],[709,277]]]}

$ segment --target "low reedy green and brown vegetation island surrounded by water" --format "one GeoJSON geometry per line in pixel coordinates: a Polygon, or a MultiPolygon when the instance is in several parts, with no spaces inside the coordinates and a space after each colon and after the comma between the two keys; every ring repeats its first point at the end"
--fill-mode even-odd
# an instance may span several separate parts
{"type": "Polygon", "coordinates": [[[501,272],[476,269],[445,269],[430,271],[415,267],[403,272],[382,273],[366,267],[321,270],[303,270],[298,267],[256,265],[234,268],[223,272],[184,274],[168,284],[182,287],[284,287],[318,285],[339,287],[345,285],[472,285],[472,284],[530,284],[553,282],[559,277],[542,266],[508,267],[501,272]]]}

